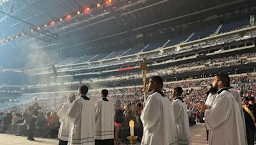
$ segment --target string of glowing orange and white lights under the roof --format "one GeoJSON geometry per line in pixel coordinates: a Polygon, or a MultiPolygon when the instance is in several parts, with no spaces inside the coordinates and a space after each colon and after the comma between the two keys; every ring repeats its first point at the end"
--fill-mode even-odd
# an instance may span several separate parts
{"type": "Polygon", "coordinates": [[[80,7],[79,10],[74,11],[73,13],[64,15],[63,17],[59,17],[59,18],[52,18],[53,20],[46,22],[42,25],[38,25],[36,27],[31,27],[30,28],[30,32],[28,31],[22,31],[20,32],[20,34],[17,34],[15,36],[9,36],[6,37],[4,40],[0,41],[0,45],[3,45],[4,43],[7,43],[9,41],[12,41],[13,39],[17,39],[20,38],[22,36],[31,36],[31,33],[33,32],[38,32],[38,31],[42,31],[42,29],[47,28],[47,27],[53,27],[54,25],[63,22],[64,20],[71,20],[72,17],[76,17],[79,15],[90,15],[91,11],[94,8],[101,8],[102,10],[105,8],[105,6],[110,6],[113,0],[104,0],[104,1],[100,1],[99,3],[93,3],[90,6],[83,6],[80,7]]]}

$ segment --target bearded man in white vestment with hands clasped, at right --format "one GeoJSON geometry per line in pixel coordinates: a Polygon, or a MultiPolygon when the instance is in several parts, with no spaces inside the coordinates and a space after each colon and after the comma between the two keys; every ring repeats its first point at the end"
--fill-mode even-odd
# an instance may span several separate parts
{"type": "Polygon", "coordinates": [[[218,91],[216,98],[211,108],[207,105],[201,107],[205,111],[205,124],[210,128],[209,145],[246,144],[240,106],[228,92],[229,83],[227,74],[214,76],[212,86],[218,91]]]}

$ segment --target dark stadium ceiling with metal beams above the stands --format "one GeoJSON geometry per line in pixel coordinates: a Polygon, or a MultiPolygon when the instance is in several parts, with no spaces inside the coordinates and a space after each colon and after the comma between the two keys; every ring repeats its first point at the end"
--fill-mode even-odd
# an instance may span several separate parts
{"type": "MultiPolygon", "coordinates": [[[[96,6],[88,14],[72,16],[70,20],[63,20],[51,27],[43,27],[52,20],[58,20],[79,9],[83,10],[83,6],[90,7],[99,2],[0,0],[0,11],[3,12],[0,13],[0,40],[20,34],[22,31],[30,32],[30,29],[40,26],[45,29],[45,34],[35,32],[34,38],[24,37],[52,39],[49,37],[52,33],[58,35],[62,49],[84,48],[90,43],[100,44],[105,39],[109,41],[109,39],[129,38],[168,26],[175,27],[175,25],[211,18],[221,13],[239,15],[241,14],[239,10],[244,8],[255,10],[256,6],[253,0],[112,0],[109,6],[96,6]],[[234,11],[238,12],[234,13],[234,11]]],[[[44,48],[44,46],[49,45],[42,43],[40,47],[44,48]]]]}

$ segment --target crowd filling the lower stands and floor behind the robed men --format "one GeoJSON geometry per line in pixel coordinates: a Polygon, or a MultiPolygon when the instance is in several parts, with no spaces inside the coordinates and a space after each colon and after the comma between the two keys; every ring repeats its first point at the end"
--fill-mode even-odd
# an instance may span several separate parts
{"type": "MultiPolygon", "coordinates": [[[[242,97],[256,97],[255,75],[237,75],[230,77],[230,79],[231,84],[240,90],[242,97]]],[[[210,83],[211,78],[166,83],[164,85],[164,93],[166,97],[171,98],[173,87],[181,86],[184,89],[182,97],[184,98],[184,102],[188,104],[189,116],[195,121],[195,116],[199,111],[196,109],[196,105],[205,103],[207,97],[207,86],[209,86],[210,83]]],[[[124,127],[127,126],[125,125],[125,120],[131,120],[131,118],[140,122],[138,117],[140,114],[138,114],[137,107],[140,107],[141,104],[143,104],[142,90],[143,89],[138,86],[109,90],[109,100],[113,102],[120,100],[120,108],[124,109],[124,127]]],[[[36,135],[40,137],[56,137],[58,134],[58,128],[60,127],[57,112],[60,110],[65,100],[67,100],[67,97],[61,96],[63,94],[64,93],[54,93],[52,95],[55,97],[41,97],[40,99],[35,99],[29,102],[28,104],[22,104],[20,106],[13,107],[12,109],[4,110],[0,113],[0,131],[16,135],[26,135],[27,126],[26,123],[24,123],[24,112],[26,112],[26,109],[31,106],[31,104],[34,104],[33,106],[38,109],[36,116],[36,135]]],[[[99,99],[99,92],[90,92],[88,97],[96,101],[99,99]]],[[[198,116],[198,118],[200,117],[198,116]]],[[[139,125],[141,124],[139,123],[139,125]]],[[[129,125],[127,127],[129,127],[129,125]]],[[[127,128],[124,128],[124,130],[125,129],[127,128]]],[[[140,132],[141,126],[136,129],[140,132]]],[[[123,135],[125,136],[125,133],[123,135]]]]}

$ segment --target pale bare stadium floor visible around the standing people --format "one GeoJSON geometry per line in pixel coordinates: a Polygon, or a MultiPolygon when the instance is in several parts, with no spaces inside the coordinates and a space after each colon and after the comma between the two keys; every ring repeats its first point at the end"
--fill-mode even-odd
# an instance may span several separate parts
{"type": "MultiPolygon", "coordinates": [[[[206,135],[204,123],[196,124],[191,127],[192,144],[195,145],[206,145],[206,135]]],[[[28,141],[26,137],[16,137],[12,134],[0,134],[1,145],[47,145],[47,144],[58,144],[57,139],[44,139],[35,137],[35,141],[28,141]]],[[[137,144],[140,144],[138,142],[137,144]]]]}

